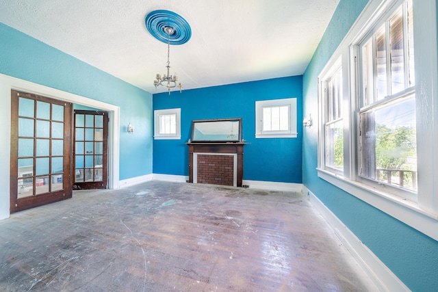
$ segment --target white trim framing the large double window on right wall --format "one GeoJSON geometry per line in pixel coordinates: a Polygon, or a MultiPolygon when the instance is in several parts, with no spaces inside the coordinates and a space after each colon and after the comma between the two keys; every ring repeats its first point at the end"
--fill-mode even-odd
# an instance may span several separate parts
{"type": "MultiPolygon", "coordinates": [[[[402,0],[370,0],[355,24],[339,44],[338,49],[327,63],[334,64],[342,57],[344,92],[348,92],[348,111],[344,111],[344,133],[349,128],[348,136],[344,137],[344,174],[336,174],[324,170],[322,163],[322,145],[318,143],[318,176],[329,183],[343,189],[352,196],[371,204],[373,207],[395,217],[405,224],[419,230],[429,237],[438,240],[438,46],[437,46],[437,3],[435,0],[413,0],[414,42],[415,42],[415,83],[417,84],[417,153],[418,155],[418,192],[417,202],[406,200],[400,196],[388,193],[372,185],[358,181],[357,152],[357,84],[355,75],[356,50],[352,44],[359,43],[370,27],[394,5],[400,5],[402,0]],[[375,13],[376,11],[382,13],[375,13]],[[349,72],[347,72],[349,71],[349,72]],[[344,73],[346,72],[346,73],[344,73]],[[346,116],[348,115],[348,116],[346,116]],[[346,146],[346,147],[345,147],[346,146]],[[346,149],[345,149],[346,148],[346,149]]],[[[320,76],[324,76],[324,71],[320,76]]],[[[325,72],[326,74],[326,72],[325,72]]],[[[318,82],[319,83],[319,82],[318,82]]],[[[320,86],[318,84],[318,86],[320,86]]],[[[320,121],[322,116],[320,112],[320,121]]],[[[321,127],[321,122],[319,123],[321,127]]],[[[321,135],[321,131],[320,131],[321,135]]],[[[321,136],[320,142],[321,142],[321,136]]]]}

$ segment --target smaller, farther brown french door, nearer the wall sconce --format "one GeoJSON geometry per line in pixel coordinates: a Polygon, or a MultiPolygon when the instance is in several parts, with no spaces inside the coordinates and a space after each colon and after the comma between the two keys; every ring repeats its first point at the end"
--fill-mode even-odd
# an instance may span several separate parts
{"type": "Polygon", "coordinates": [[[107,188],[107,111],[75,110],[73,189],[107,188]]]}

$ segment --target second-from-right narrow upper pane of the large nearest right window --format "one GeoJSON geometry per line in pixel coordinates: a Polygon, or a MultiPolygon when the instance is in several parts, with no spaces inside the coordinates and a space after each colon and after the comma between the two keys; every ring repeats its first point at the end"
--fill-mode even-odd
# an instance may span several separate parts
{"type": "Polygon", "coordinates": [[[403,14],[398,10],[389,22],[391,36],[391,94],[404,90],[403,14]]]}

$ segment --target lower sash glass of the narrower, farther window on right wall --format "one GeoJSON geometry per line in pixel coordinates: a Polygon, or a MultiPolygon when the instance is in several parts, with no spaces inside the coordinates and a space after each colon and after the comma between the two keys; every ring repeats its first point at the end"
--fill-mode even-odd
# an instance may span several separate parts
{"type": "Polygon", "coordinates": [[[326,126],[326,166],[337,170],[344,170],[344,122],[328,124],[326,126]]]}

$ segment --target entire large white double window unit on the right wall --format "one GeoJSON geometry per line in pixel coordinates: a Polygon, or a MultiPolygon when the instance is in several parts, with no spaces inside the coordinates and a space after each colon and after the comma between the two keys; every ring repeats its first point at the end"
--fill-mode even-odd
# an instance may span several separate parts
{"type": "Polygon", "coordinates": [[[318,176],[438,240],[436,8],[365,6],[318,76],[318,176]]]}

